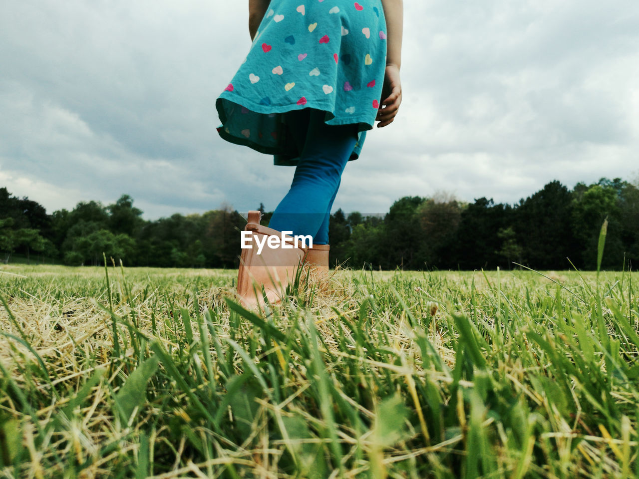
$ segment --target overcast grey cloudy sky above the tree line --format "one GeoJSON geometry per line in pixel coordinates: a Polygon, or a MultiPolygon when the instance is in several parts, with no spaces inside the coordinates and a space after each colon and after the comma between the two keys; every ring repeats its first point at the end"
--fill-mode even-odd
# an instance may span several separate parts
{"type": "MultiPolygon", "coordinates": [[[[124,193],[150,219],[274,209],[293,169],[215,131],[250,47],[247,3],[4,0],[0,186],[49,212],[124,193]]],[[[639,174],[636,0],[404,9],[400,114],[369,132],[334,209],[437,192],[516,202],[553,179],[639,174]]]]}

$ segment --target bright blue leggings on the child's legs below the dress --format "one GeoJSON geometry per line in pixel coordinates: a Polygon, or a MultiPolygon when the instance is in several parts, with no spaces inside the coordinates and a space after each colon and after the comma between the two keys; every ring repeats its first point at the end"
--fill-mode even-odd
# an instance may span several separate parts
{"type": "Polygon", "coordinates": [[[314,245],[327,245],[330,209],[357,142],[357,126],[327,125],[325,112],[315,109],[288,115],[300,160],[291,188],[275,208],[268,227],[293,231],[293,235],[310,234],[314,245]]]}

